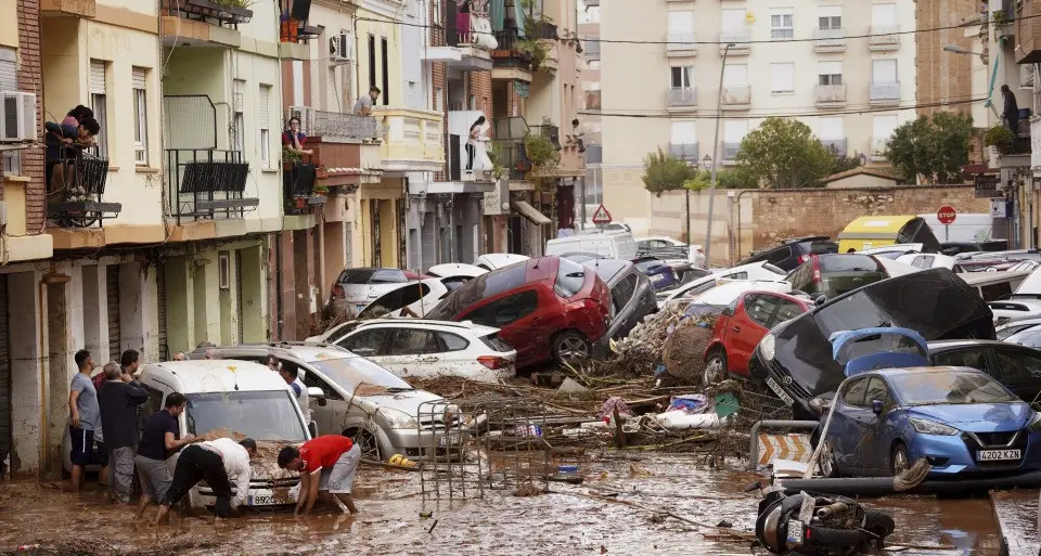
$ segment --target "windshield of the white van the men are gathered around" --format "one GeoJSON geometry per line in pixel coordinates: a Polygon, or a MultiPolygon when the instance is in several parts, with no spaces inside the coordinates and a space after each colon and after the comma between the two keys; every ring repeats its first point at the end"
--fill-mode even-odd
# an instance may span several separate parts
{"type": "Polygon", "coordinates": [[[304,442],[306,432],[288,390],[189,393],[188,431],[226,431],[254,440],[304,442]]]}

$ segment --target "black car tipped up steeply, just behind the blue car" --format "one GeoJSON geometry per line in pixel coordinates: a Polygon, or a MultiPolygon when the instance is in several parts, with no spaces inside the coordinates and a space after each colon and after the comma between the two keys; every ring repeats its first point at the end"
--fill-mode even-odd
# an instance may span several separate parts
{"type": "MultiPolygon", "coordinates": [[[[766,380],[797,418],[817,419],[845,378],[830,338],[835,333],[905,327],[926,340],[993,339],[993,314],[965,281],[947,269],[931,269],[870,284],[836,297],[764,336],[748,370],[766,380]]],[[[881,341],[891,341],[883,336],[881,341]]],[[[870,341],[858,342],[864,350],[870,341]]]]}

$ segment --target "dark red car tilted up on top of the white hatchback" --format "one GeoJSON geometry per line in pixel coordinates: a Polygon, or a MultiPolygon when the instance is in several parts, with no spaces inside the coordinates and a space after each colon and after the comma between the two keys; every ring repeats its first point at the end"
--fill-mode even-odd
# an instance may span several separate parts
{"type": "Polygon", "coordinates": [[[466,282],[426,318],[500,328],[525,367],[589,357],[611,322],[611,292],[591,269],[542,257],[466,282]]]}

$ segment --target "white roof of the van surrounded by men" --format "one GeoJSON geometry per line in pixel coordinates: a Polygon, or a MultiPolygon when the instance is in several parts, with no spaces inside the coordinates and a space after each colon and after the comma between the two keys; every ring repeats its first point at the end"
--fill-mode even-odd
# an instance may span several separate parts
{"type": "Polygon", "coordinates": [[[285,380],[260,363],[252,361],[191,360],[149,363],[141,371],[140,380],[150,378],[168,385],[181,393],[239,391],[278,391],[285,389],[285,380]]]}

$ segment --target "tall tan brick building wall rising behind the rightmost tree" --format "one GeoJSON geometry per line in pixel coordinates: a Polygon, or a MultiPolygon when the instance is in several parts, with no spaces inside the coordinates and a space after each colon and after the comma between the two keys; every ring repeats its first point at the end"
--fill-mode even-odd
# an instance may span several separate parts
{"type": "MultiPolygon", "coordinates": [[[[998,0],[994,0],[998,1],[998,0]]],[[[978,0],[917,0],[918,29],[940,29],[915,34],[915,87],[918,104],[937,104],[917,108],[920,115],[951,111],[969,114],[972,104],[973,56],[944,52],[943,47],[958,44],[973,50],[971,37],[964,27],[944,28],[979,20],[978,0]],[[962,101],[962,102],[960,102],[962,101]]]]}

